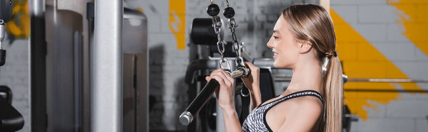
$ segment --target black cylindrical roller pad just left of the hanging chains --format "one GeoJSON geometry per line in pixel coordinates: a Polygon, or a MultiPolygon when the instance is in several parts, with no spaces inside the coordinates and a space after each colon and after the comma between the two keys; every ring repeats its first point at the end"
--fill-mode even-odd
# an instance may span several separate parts
{"type": "MultiPolygon", "coordinates": [[[[223,40],[223,30],[220,31],[220,38],[223,40]]],[[[196,45],[216,45],[218,39],[211,18],[193,19],[190,39],[196,45]]]]}

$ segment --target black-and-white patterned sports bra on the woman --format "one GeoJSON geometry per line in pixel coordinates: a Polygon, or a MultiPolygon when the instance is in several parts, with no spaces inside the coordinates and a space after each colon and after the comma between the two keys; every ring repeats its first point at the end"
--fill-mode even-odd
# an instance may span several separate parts
{"type": "Polygon", "coordinates": [[[269,109],[273,106],[280,104],[282,101],[286,101],[288,99],[296,98],[296,97],[304,97],[304,96],[314,96],[318,97],[322,101],[321,94],[313,91],[313,90],[305,90],[301,92],[295,92],[292,94],[288,94],[285,97],[280,99],[276,99],[275,101],[271,101],[267,104],[260,104],[257,108],[253,109],[251,113],[245,119],[242,129],[243,132],[253,132],[253,131],[272,131],[266,122],[266,114],[269,109]]]}

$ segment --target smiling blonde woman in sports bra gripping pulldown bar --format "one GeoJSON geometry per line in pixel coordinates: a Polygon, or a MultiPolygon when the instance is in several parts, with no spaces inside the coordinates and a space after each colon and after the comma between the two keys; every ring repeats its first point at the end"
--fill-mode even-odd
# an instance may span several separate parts
{"type": "Polygon", "coordinates": [[[251,73],[243,82],[251,93],[252,111],[241,126],[233,104],[233,78],[221,69],[205,78],[220,83],[217,97],[226,131],[341,131],[342,67],[335,40],[332,19],[321,6],[298,4],[282,11],[267,47],[272,48],[275,67],[292,69],[285,92],[261,102],[260,70],[247,62],[251,73]]]}

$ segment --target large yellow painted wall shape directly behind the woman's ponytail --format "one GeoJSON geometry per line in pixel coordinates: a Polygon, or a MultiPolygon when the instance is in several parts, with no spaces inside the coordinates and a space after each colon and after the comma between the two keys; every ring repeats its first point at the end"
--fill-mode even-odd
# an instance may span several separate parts
{"type": "MultiPolygon", "coordinates": [[[[382,53],[374,48],[355,29],[346,23],[334,10],[330,10],[337,37],[337,52],[342,61],[344,74],[350,78],[408,78],[382,53]]],[[[348,82],[344,89],[397,89],[397,85],[405,90],[421,89],[417,84],[391,84],[379,82],[348,82]]],[[[370,101],[387,104],[398,99],[397,92],[345,92],[345,104],[361,119],[366,120],[366,108],[377,109],[370,101]]]]}

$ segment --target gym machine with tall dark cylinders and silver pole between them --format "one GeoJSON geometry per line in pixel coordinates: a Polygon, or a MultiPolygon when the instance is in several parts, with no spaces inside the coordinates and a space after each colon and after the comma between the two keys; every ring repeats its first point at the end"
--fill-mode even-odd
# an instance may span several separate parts
{"type": "Polygon", "coordinates": [[[29,2],[31,131],[148,131],[146,16],[118,0],[29,2]]]}

